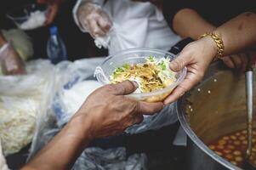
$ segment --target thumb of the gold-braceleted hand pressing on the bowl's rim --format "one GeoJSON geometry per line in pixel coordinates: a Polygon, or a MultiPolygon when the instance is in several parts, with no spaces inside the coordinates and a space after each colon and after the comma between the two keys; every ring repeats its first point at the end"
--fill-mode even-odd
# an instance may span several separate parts
{"type": "Polygon", "coordinates": [[[188,54],[179,54],[177,58],[172,60],[169,64],[172,71],[181,71],[186,65],[191,62],[191,56],[188,54]]]}

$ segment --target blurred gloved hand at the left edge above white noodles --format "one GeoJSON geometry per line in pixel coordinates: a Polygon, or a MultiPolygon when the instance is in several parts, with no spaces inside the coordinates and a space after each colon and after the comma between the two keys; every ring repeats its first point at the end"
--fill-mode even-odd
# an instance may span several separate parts
{"type": "Polygon", "coordinates": [[[25,74],[26,69],[19,54],[6,43],[0,48],[0,63],[4,75],[25,74]]]}

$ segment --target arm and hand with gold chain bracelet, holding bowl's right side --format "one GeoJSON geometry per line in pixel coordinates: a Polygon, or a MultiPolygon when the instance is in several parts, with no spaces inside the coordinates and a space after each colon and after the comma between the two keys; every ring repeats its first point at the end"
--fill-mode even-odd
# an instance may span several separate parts
{"type": "MultiPolygon", "coordinates": [[[[233,20],[219,26],[214,33],[218,33],[224,42],[224,55],[235,54],[245,48],[256,45],[256,14],[240,14],[233,20]]],[[[164,103],[174,102],[186,91],[190,90],[204,76],[208,65],[217,54],[216,43],[211,37],[204,37],[189,43],[170,64],[174,71],[180,71],[185,66],[188,69],[185,80],[179,84],[174,92],[165,99],[164,103]]]]}

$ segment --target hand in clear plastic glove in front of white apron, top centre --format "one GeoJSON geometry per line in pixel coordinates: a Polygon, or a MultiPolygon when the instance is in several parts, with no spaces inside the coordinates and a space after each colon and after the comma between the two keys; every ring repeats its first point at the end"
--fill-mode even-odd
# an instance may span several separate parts
{"type": "Polygon", "coordinates": [[[111,29],[112,23],[109,15],[98,4],[81,3],[77,16],[82,29],[88,31],[92,37],[104,37],[111,29]]]}

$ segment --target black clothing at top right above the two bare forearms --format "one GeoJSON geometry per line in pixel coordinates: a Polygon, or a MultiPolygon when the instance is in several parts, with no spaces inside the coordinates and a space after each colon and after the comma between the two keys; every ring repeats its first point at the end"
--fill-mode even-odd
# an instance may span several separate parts
{"type": "Polygon", "coordinates": [[[183,8],[194,9],[204,20],[207,20],[213,26],[221,26],[239,14],[244,12],[256,12],[256,1],[164,0],[162,10],[171,28],[173,28],[175,14],[183,8]]]}

